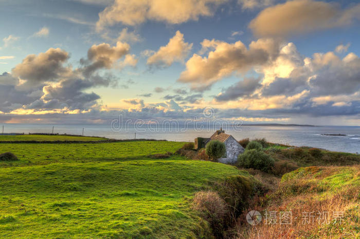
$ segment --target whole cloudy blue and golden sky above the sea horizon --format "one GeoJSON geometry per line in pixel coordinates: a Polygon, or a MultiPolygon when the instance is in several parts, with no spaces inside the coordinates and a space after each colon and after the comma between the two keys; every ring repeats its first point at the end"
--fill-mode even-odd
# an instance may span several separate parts
{"type": "Polygon", "coordinates": [[[0,0],[0,122],[358,126],[359,16],[350,0],[0,0]]]}

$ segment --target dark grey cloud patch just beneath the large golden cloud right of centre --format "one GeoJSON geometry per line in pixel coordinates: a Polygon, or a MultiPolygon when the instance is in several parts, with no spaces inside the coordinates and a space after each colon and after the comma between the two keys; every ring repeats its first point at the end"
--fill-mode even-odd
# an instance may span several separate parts
{"type": "Polygon", "coordinates": [[[254,91],[261,87],[260,78],[244,78],[243,81],[236,83],[215,96],[217,101],[229,101],[239,97],[250,96],[254,91]]]}

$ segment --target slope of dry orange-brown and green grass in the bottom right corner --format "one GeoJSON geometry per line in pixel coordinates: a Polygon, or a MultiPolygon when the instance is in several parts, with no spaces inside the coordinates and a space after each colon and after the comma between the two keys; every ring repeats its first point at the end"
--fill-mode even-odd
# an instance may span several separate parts
{"type": "Polygon", "coordinates": [[[231,237],[359,238],[359,176],[360,166],[309,167],[292,172],[287,179],[283,178],[279,190],[267,197],[267,207],[258,203],[244,211],[238,220],[237,232],[231,237]],[[250,226],[245,222],[244,218],[249,210],[258,210],[264,216],[265,209],[277,213],[291,211],[292,224],[265,224],[264,218],[257,226],[250,226]],[[326,212],[328,220],[318,220],[326,212]],[[341,223],[334,221],[336,212],[344,213],[341,223]]]}

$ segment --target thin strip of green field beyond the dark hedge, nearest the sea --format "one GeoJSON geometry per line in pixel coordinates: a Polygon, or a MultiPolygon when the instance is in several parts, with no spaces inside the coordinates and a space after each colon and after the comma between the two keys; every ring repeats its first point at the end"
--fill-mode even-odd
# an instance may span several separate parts
{"type": "Polygon", "coordinates": [[[67,135],[0,135],[0,141],[100,141],[101,137],[67,135]]]}

